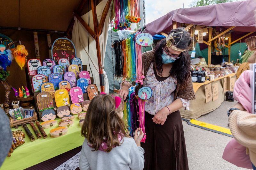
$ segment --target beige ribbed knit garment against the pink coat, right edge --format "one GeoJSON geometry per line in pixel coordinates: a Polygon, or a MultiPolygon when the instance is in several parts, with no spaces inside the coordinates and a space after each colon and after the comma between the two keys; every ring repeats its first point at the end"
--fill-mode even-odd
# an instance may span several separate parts
{"type": "Polygon", "coordinates": [[[256,165],[256,114],[232,111],[229,128],[236,141],[249,149],[250,159],[256,165]]]}

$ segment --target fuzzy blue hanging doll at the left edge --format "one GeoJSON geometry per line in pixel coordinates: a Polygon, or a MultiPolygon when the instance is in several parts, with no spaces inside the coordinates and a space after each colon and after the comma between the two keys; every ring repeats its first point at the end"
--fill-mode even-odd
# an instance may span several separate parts
{"type": "Polygon", "coordinates": [[[3,44],[0,44],[0,66],[6,71],[6,67],[12,63],[12,52],[7,49],[3,44]]]}

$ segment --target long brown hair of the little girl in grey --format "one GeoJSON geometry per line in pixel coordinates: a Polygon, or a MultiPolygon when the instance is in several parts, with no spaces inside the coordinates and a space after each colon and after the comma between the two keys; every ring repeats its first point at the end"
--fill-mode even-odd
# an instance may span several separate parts
{"type": "Polygon", "coordinates": [[[99,149],[104,137],[108,141],[106,152],[110,152],[113,145],[120,146],[118,134],[129,136],[126,133],[124,121],[117,114],[124,110],[124,101],[121,100],[122,102],[116,109],[113,96],[116,94],[98,95],[92,99],[88,107],[81,135],[87,138],[94,151],[99,149]]]}

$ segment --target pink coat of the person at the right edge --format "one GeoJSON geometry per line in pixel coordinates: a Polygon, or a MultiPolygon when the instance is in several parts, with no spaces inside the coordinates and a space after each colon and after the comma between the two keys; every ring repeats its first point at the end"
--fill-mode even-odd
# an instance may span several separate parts
{"type": "MultiPolygon", "coordinates": [[[[249,113],[252,113],[251,78],[252,71],[245,70],[237,79],[233,93],[234,99],[238,101],[234,107],[249,113]]],[[[237,143],[234,138],[227,144],[222,158],[238,167],[253,168],[249,155],[246,155],[246,147],[237,143]]]]}

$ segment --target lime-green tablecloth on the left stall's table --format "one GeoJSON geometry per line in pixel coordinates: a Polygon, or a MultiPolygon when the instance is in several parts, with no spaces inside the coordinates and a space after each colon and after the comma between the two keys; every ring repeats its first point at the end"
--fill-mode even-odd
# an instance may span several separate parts
{"type": "MultiPolygon", "coordinates": [[[[12,156],[7,157],[4,160],[0,170],[25,169],[81,146],[84,142],[84,137],[81,136],[81,126],[79,125],[77,115],[75,115],[75,117],[73,126],[68,128],[68,134],[57,138],[50,137],[50,130],[59,127],[59,125],[53,128],[44,129],[48,138],[44,139],[42,137],[41,139],[37,139],[35,132],[30,125],[27,124],[31,133],[36,138],[33,142],[30,141],[21,125],[19,126],[19,129],[12,128],[12,131],[22,129],[26,135],[24,138],[25,144],[17,147],[13,153],[11,153],[12,156]]],[[[57,120],[58,123],[60,122],[60,118],[55,120],[57,120]]]]}

